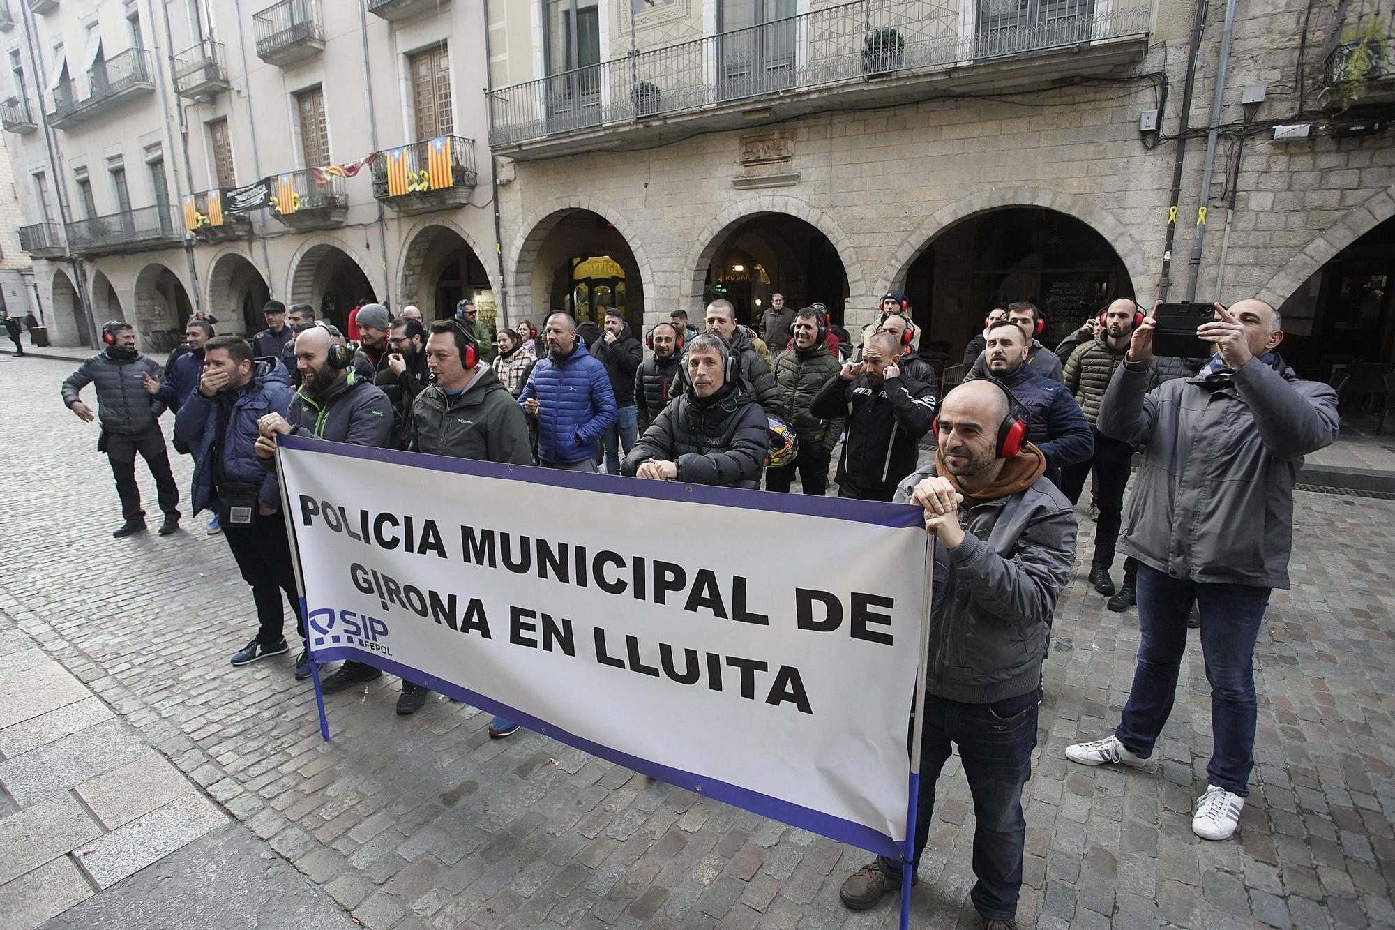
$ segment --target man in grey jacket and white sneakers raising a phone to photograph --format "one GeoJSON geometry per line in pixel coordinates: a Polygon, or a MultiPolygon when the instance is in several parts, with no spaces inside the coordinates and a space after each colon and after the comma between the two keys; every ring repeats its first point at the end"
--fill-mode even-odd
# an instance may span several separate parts
{"type": "Polygon", "coordinates": [[[1172,712],[1197,602],[1212,753],[1191,829],[1226,839],[1254,768],[1254,644],[1269,592],[1289,586],[1293,485],[1303,457],[1336,438],[1336,392],[1283,363],[1274,350],[1282,320],[1262,300],[1215,304],[1197,327],[1215,345],[1207,364],[1145,392],[1155,323],[1149,314],[1134,328],[1096,420],[1102,434],[1144,447],[1123,536],[1141,563],[1138,663],[1115,733],[1066,757],[1145,764],[1172,712]]]}

